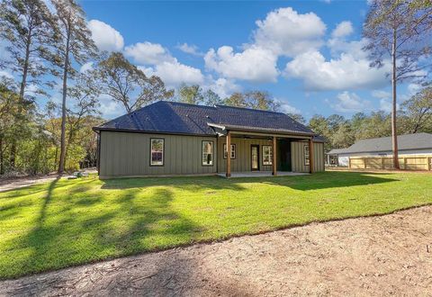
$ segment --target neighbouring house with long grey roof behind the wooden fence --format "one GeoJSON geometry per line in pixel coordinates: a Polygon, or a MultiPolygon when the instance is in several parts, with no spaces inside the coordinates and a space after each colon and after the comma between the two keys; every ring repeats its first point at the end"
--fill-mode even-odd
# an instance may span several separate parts
{"type": "MultiPolygon", "coordinates": [[[[432,134],[415,133],[398,136],[399,155],[432,156],[432,134]]],[[[392,137],[359,140],[349,148],[332,149],[329,165],[348,166],[349,157],[392,157],[392,137]]]]}

